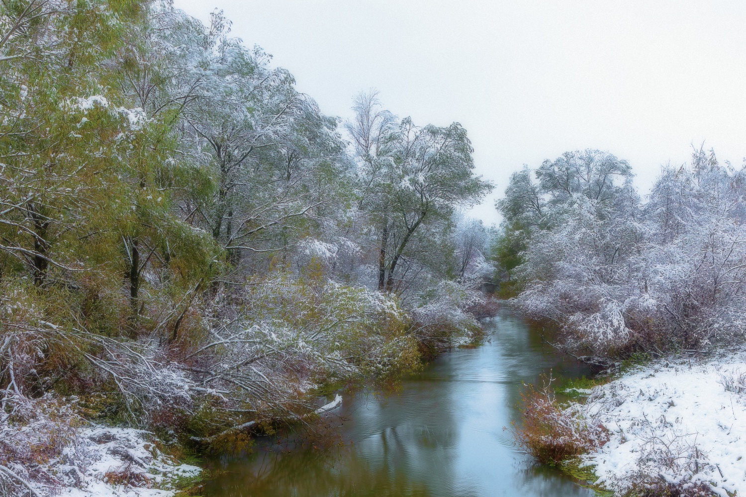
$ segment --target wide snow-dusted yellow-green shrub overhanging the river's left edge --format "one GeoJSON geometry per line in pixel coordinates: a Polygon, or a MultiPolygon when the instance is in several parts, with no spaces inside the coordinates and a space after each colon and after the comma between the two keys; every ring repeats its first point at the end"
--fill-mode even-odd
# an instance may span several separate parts
{"type": "Polygon", "coordinates": [[[198,408],[204,422],[212,417],[210,436],[247,419],[301,419],[314,410],[309,391],[326,382],[385,382],[419,367],[407,315],[366,288],[274,273],[219,297],[211,312],[219,318],[185,358],[189,391],[232,410],[198,408]]]}

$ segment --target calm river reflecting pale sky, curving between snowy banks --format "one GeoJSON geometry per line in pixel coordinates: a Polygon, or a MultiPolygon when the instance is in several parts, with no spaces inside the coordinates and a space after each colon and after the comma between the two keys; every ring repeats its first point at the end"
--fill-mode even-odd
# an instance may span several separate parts
{"type": "Polygon", "coordinates": [[[512,444],[522,382],[548,372],[588,370],[542,347],[513,311],[487,323],[486,344],[442,354],[384,398],[360,394],[335,412],[335,449],[260,446],[247,458],[213,463],[206,497],[593,496],[512,444]]]}

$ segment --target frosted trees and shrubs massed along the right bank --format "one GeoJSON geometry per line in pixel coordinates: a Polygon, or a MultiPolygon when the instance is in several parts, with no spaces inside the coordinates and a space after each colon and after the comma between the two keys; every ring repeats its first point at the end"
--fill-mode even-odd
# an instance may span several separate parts
{"type": "Polygon", "coordinates": [[[498,206],[504,229],[527,240],[515,303],[591,360],[742,337],[745,170],[695,151],[690,168],[662,171],[645,203],[631,179],[596,151],[514,175],[498,206]]]}

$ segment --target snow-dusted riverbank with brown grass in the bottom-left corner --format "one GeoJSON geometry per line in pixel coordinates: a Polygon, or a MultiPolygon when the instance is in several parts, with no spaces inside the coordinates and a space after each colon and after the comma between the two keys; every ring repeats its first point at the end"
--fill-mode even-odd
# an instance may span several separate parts
{"type": "Polygon", "coordinates": [[[25,440],[18,449],[28,457],[0,466],[1,496],[172,497],[201,474],[162,452],[154,434],[133,428],[40,420],[2,435],[25,440]]]}

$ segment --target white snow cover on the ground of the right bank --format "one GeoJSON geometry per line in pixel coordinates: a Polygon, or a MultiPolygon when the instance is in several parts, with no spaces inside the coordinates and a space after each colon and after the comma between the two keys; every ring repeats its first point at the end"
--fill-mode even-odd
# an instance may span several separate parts
{"type": "Polygon", "coordinates": [[[583,457],[599,484],[647,476],[746,495],[746,349],[640,368],[593,388],[583,411],[609,430],[609,442],[583,457]]]}

